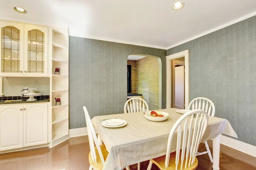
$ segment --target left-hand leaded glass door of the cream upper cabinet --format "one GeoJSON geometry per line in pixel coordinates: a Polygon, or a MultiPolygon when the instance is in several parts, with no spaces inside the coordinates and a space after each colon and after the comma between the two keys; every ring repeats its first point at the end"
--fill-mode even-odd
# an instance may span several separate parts
{"type": "Polygon", "coordinates": [[[1,22],[2,76],[23,76],[23,25],[1,22]]]}

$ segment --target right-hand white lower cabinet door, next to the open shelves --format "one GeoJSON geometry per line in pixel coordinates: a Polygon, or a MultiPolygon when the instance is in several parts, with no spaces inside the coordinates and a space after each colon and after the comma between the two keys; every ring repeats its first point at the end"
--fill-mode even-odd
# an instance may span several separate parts
{"type": "Polygon", "coordinates": [[[23,105],[24,147],[47,143],[47,103],[23,105]]]}

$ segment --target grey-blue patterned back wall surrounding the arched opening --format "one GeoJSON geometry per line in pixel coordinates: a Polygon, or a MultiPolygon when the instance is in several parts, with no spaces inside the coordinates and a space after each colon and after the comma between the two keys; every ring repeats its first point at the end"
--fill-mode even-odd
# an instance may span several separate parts
{"type": "Polygon", "coordinates": [[[123,113],[127,100],[127,58],[148,54],[162,60],[162,108],[166,108],[166,50],[70,37],[70,129],[85,127],[90,117],[123,113]]]}

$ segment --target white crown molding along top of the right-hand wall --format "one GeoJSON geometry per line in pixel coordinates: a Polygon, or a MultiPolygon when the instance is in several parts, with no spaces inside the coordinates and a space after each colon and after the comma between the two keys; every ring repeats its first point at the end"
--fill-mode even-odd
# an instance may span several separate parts
{"type": "Polygon", "coordinates": [[[202,36],[204,36],[204,35],[210,34],[210,33],[214,32],[214,31],[218,31],[218,30],[220,30],[220,29],[222,29],[222,28],[225,28],[225,27],[227,27],[227,26],[231,26],[231,25],[233,25],[233,24],[235,24],[235,23],[239,23],[240,21],[246,20],[246,19],[248,19],[248,18],[250,18],[250,17],[253,17],[253,16],[255,16],[255,15],[256,15],[256,11],[253,12],[253,13],[247,14],[247,15],[245,15],[245,16],[243,16],[243,17],[240,17],[240,18],[238,18],[238,19],[236,19],[236,20],[233,20],[233,21],[231,21],[231,22],[229,22],[229,23],[226,23],[226,24],[224,24],[224,25],[222,25],[222,26],[218,26],[218,27],[216,27],[216,28],[213,28],[213,29],[211,29],[211,30],[209,30],[209,31],[206,31],[206,32],[202,33],[202,34],[198,34],[198,35],[196,35],[196,36],[194,36],[194,37],[191,37],[191,38],[189,38],[189,39],[187,39],[187,40],[184,40],[184,41],[178,42],[177,44],[171,45],[171,46],[169,46],[168,48],[166,48],[166,50],[169,50],[170,48],[174,48],[174,47],[176,47],[176,46],[178,46],[178,45],[184,44],[184,43],[189,42],[189,41],[191,41],[191,40],[195,40],[195,39],[197,39],[197,38],[199,38],[199,37],[202,37],[202,36]]]}

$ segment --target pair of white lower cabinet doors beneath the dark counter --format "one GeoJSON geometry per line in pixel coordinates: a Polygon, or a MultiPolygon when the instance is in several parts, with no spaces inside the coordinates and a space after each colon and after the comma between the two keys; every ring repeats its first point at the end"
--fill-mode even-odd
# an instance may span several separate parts
{"type": "Polygon", "coordinates": [[[47,103],[0,106],[0,151],[46,144],[47,103]]]}

